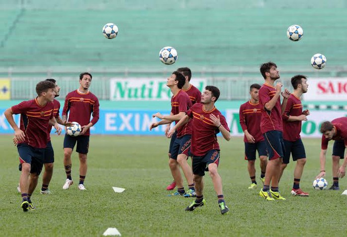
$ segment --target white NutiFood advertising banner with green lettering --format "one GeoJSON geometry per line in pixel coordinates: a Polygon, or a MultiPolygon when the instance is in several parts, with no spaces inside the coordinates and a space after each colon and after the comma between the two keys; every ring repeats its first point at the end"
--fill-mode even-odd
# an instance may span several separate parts
{"type": "MultiPolygon", "coordinates": [[[[191,79],[191,84],[200,91],[206,86],[206,79],[191,79]]],[[[172,93],[166,85],[167,79],[127,78],[110,79],[110,100],[171,100],[172,93]]]]}

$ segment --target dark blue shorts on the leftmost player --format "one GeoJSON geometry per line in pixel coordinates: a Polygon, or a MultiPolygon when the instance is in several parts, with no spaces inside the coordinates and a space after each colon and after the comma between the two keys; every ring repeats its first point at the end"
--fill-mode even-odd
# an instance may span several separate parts
{"type": "Polygon", "coordinates": [[[17,145],[17,150],[19,154],[19,170],[22,170],[22,163],[29,163],[30,173],[37,173],[37,175],[40,175],[45,149],[33,148],[25,143],[20,143],[17,145]]]}

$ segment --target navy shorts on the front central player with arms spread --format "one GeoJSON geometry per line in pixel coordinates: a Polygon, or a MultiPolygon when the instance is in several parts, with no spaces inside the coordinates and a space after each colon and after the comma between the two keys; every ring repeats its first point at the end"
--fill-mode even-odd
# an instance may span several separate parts
{"type": "Polygon", "coordinates": [[[193,156],[193,174],[204,176],[205,171],[208,171],[208,166],[211,163],[219,165],[220,152],[219,150],[210,150],[205,156],[197,157],[193,156]]]}

